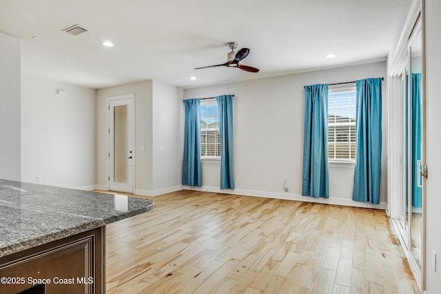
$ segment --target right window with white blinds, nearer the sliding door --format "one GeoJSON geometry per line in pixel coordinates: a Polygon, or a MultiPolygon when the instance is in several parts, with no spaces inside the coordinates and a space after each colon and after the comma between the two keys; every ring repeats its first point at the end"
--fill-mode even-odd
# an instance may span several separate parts
{"type": "Polygon", "coordinates": [[[329,88],[328,157],[330,161],[356,159],[356,90],[329,88]]]}

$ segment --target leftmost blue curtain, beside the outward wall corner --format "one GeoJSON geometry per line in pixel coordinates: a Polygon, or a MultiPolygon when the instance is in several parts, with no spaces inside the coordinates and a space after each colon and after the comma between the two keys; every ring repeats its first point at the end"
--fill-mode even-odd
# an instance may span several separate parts
{"type": "Polygon", "coordinates": [[[184,104],[185,138],[182,184],[201,187],[201,99],[187,99],[184,104]]]}

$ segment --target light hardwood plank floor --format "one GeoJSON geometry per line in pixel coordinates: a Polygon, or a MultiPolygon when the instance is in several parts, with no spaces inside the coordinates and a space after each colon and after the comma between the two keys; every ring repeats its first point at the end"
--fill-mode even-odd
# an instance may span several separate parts
{"type": "Polygon", "coordinates": [[[150,199],[152,211],[107,225],[107,293],[420,293],[382,210],[185,190],[150,199]]]}

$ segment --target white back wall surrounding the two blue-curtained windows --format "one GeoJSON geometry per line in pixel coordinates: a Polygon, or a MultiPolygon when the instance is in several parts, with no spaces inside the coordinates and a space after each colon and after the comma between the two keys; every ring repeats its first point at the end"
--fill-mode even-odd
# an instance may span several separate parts
{"type": "MultiPolygon", "coordinates": [[[[387,76],[385,62],[291,74],[240,83],[184,90],[185,98],[234,94],[234,178],[227,193],[314,200],[367,206],[352,199],[353,167],[329,168],[329,200],[302,197],[302,146],[305,85],[340,83],[387,76]],[[289,192],[283,191],[287,177],[289,192]],[[336,186],[331,186],[335,179],[336,186]]],[[[380,206],[387,200],[387,79],[382,86],[382,185],[380,206]]],[[[183,109],[183,106],[181,106],[183,109]]],[[[184,116],[182,120],[184,119],[184,116]]],[[[203,162],[203,189],[220,191],[220,165],[203,162]]]]}

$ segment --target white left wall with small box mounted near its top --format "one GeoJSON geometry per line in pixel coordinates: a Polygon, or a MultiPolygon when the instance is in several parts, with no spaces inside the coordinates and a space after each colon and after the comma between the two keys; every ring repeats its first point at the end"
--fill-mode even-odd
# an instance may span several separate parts
{"type": "Polygon", "coordinates": [[[94,126],[95,90],[21,76],[21,180],[93,189],[94,126]]]}

